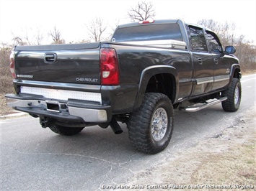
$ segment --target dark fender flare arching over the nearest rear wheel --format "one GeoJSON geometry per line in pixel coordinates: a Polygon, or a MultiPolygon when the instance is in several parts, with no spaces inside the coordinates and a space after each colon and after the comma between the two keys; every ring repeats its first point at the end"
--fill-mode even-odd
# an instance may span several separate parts
{"type": "Polygon", "coordinates": [[[138,93],[136,95],[136,100],[133,105],[133,110],[141,106],[149,80],[151,77],[157,74],[171,74],[174,76],[176,86],[175,98],[177,98],[177,93],[179,92],[179,79],[177,77],[176,68],[170,65],[153,65],[150,67],[146,67],[144,70],[142,70],[141,78],[138,84],[138,93]]]}

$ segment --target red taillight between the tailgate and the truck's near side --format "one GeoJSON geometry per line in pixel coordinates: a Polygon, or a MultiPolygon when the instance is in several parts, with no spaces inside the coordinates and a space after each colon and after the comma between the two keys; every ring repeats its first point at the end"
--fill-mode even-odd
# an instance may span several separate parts
{"type": "Polygon", "coordinates": [[[115,49],[100,50],[100,73],[102,85],[119,85],[118,57],[115,49]]]}

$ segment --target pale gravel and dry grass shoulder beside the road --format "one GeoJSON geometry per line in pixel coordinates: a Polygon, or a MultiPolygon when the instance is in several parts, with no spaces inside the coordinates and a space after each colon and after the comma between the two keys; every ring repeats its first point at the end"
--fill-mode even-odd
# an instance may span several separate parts
{"type": "Polygon", "coordinates": [[[128,190],[256,190],[255,127],[256,106],[224,131],[139,172],[123,186],[128,190]]]}

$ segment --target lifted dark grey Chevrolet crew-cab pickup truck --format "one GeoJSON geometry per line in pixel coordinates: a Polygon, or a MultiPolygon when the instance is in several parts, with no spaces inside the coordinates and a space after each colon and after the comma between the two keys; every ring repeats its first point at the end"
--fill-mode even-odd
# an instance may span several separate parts
{"type": "Polygon", "coordinates": [[[211,29],[180,19],[123,24],[110,42],[17,46],[10,56],[16,93],[6,100],[57,134],[94,125],[120,134],[126,124],[131,144],[156,154],[169,144],[175,109],[239,109],[235,51],[211,29]]]}

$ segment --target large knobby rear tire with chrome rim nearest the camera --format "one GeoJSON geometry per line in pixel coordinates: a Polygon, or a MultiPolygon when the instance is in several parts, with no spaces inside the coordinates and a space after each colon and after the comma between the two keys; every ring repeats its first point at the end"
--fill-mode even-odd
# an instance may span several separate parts
{"type": "Polygon", "coordinates": [[[129,139],[140,152],[162,152],[172,137],[172,102],[162,93],[146,93],[141,107],[128,123],[129,139]]]}

